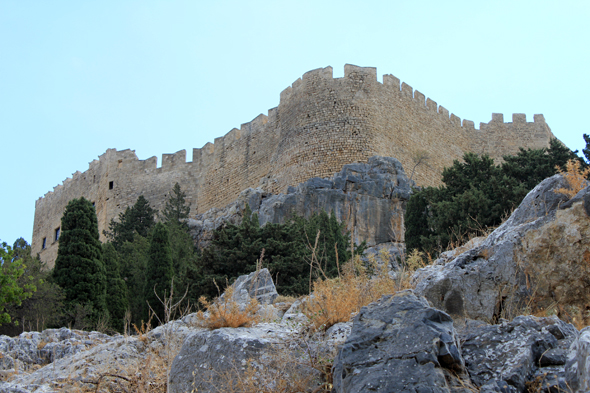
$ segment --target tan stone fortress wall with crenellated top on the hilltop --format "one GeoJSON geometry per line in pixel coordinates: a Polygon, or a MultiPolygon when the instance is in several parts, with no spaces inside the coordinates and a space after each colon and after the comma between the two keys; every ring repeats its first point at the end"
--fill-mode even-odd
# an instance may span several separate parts
{"type": "Polygon", "coordinates": [[[395,157],[408,176],[415,157],[418,185],[438,185],[444,167],[465,152],[494,159],[519,147],[547,147],[551,130],[543,115],[527,122],[514,114],[505,123],[493,114],[489,123],[463,120],[392,75],[377,81],[376,68],[346,65],[343,78],[332,67],[309,71],[280,95],[278,107],[234,128],[214,143],[139,160],[132,150],[108,149],[85,172],[76,172],[35,204],[33,253],[51,267],[57,256],[56,230],[67,203],[84,196],[95,203],[102,231],[139,195],[162,209],[168,193],[180,183],[191,203],[191,216],[219,208],[248,187],[280,193],[312,177],[328,177],[344,164],[367,162],[373,155],[395,157]],[[44,247],[45,246],[45,247],[44,247]]]}

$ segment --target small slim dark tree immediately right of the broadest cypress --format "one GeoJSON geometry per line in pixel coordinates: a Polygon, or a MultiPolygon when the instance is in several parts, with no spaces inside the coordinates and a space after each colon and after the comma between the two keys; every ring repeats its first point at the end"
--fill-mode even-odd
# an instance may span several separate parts
{"type": "Polygon", "coordinates": [[[102,246],[102,255],[107,274],[107,309],[113,329],[122,332],[125,312],[129,308],[127,285],[121,278],[119,255],[111,243],[102,246]]]}

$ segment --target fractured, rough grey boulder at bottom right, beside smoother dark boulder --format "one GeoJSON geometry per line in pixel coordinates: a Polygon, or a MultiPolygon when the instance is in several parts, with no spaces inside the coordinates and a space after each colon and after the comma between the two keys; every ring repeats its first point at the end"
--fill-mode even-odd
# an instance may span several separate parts
{"type": "Polygon", "coordinates": [[[577,330],[557,317],[519,316],[489,325],[468,321],[459,329],[461,353],[471,380],[483,390],[524,392],[527,383],[543,391],[568,391],[566,354],[577,330]]]}

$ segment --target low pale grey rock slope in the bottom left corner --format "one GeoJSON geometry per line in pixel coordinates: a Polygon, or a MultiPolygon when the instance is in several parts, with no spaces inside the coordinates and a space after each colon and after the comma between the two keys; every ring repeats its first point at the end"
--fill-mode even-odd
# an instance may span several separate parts
{"type": "Polygon", "coordinates": [[[137,378],[142,371],[152,371],[147,367],[156,363],[156,357],[166,356],[166,351],[180,346],[189,332],[194,333],[195,328],[189,330],[189,326],[183,320],[173,321],[140,336],[108,336],[66,328],[23,333],[15,338],[1,336],[0,393],[80,391],[80,387],[93,390],[106,374],[137,378]]]}

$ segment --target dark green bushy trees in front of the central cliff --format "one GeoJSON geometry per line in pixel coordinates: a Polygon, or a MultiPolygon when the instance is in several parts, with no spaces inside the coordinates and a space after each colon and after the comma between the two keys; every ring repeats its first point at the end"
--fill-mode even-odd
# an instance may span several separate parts
{"type": "MultiPolygon", "coordinates": [[[[363,247],[364,244],[355,247],[355,252],[362,252],[363,247]]],[[[211,246],[203,250],[199,258],[202,269],[199,288],[210,297],[216,296],[218,289],[214,281],[225,285],[254,271],[260,263],[261,267],[268,267],[281,294],[306,294],[310,270],[312,279],[324,275],[335,277],[338,263],[342,265],[351,255],[349,233],[334,214],[324,211],[309,219],[294,216],[285,224],[267,223],[260,227],[258,216],[247,206],[242,223],[216,230],[211,246]],[[310,269],[314,247],[316,263],[310,269]]]]}

